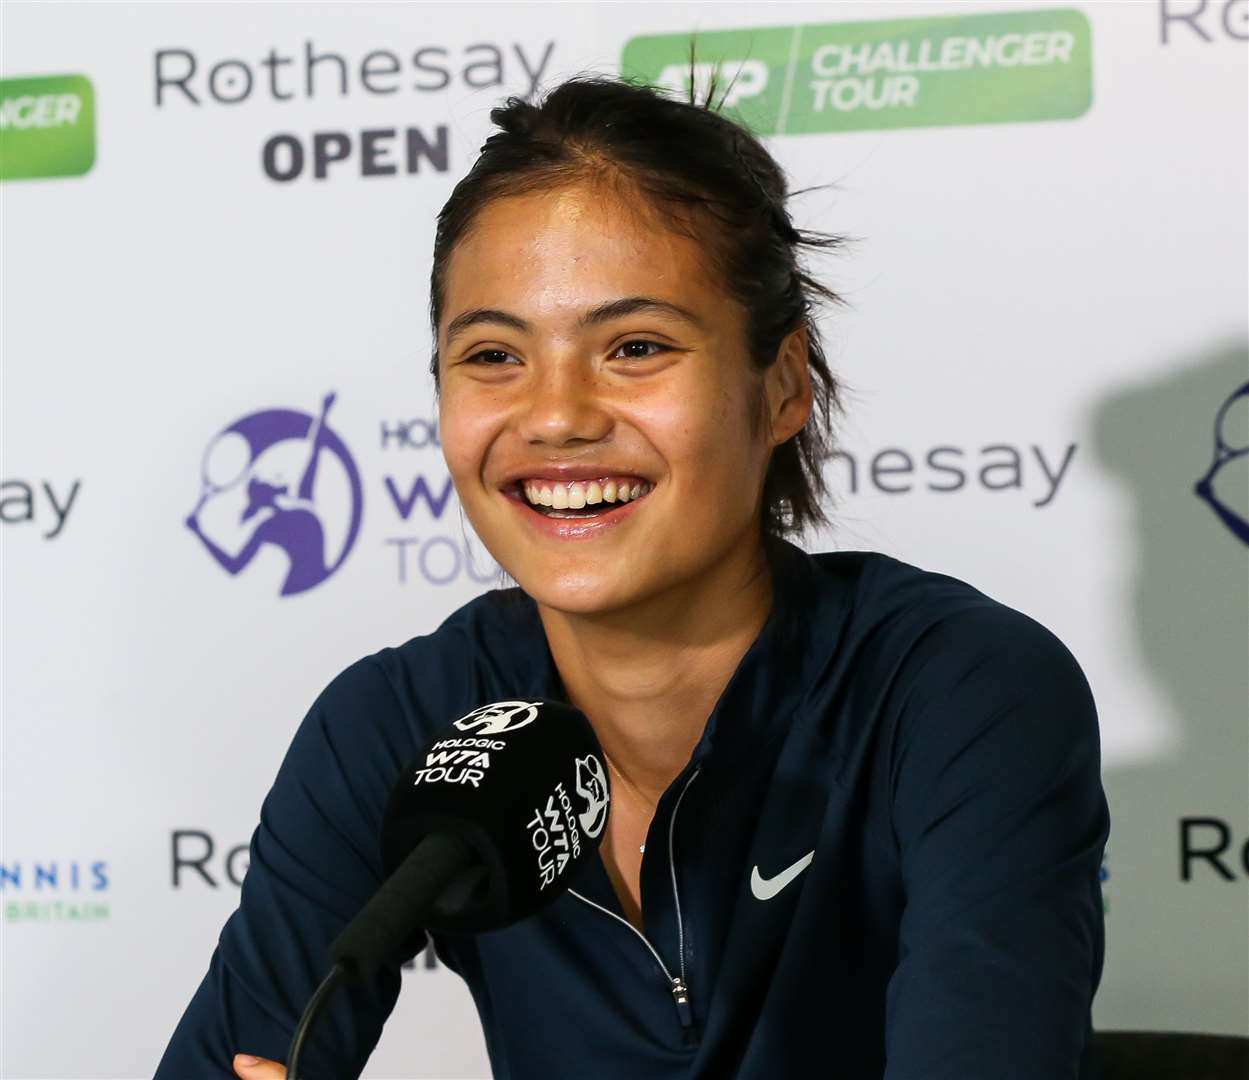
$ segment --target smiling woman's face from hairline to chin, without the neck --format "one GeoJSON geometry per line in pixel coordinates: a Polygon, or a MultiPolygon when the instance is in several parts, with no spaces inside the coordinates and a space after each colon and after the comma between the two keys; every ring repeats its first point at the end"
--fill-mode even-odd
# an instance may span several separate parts
{"type": "Polygon", "coordinates": [[[606,185],[497,199],[450,256],[443,453],[477,534],[541,604],[618,611],[756,554],[768,454],[806,411],[752,433],[763,383],[707,263],[606,185]],[[570,508],[547,517],[526,487],[570,508]]]}

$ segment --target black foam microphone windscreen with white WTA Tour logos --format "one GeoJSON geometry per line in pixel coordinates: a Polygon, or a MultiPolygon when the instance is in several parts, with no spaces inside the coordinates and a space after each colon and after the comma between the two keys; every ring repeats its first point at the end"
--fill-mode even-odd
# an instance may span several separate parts
{"type": "Polygon", "coordinates": [[[566,702],[492,702],[403,770],[382,825],[382,862],[392,874],[422,838],[460,838],[480,859],[476,888],[461,888],[453,903],[443,896],[425,929],[498,929],[568,886],[598,850],[610,803],[606,758],[585,713],[566,702]]]}

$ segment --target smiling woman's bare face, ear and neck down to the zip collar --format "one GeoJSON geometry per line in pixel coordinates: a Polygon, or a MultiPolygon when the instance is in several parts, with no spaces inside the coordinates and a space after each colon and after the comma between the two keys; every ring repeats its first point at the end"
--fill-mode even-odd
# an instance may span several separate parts
{"type": "Polygon", "coordinates": [[[452,250],[438,338],[465,513],[624,780],[603,854],[637,925],[651,810],[771,608],[764,476],[811,412],[804,330],[757,373],[706,243],[644,206],[593,172],[496,197],[452,250]]]}

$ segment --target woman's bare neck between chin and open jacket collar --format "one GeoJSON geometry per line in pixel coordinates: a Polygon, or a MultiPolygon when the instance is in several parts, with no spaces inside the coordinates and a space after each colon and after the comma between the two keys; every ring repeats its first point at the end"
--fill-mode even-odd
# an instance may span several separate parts
{"type": "Polygon", "coordinates": [[[697,581],[607,614],[538,604],[568,700],[634,788],[658,802],[767,622],[772,574],[742,546],[697,581]]]}

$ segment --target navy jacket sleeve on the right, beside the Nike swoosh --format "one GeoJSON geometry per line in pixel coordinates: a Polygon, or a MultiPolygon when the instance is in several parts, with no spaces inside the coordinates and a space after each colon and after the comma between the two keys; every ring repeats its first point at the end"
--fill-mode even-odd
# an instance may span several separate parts
{"type": "Polygon", "coordinates": [[[1109,832],[1088,682],[1005,606],[939,622],[902,670],[886,1078],[1084,1076],[1109,832]]]}

